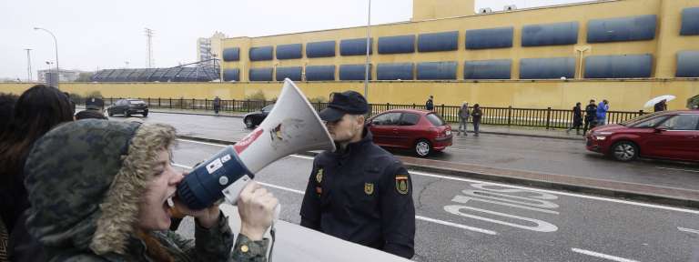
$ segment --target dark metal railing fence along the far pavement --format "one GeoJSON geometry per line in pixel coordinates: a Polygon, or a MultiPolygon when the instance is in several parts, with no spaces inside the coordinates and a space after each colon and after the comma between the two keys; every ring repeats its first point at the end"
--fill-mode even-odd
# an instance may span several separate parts
{"type": "MultiPolygon", "coordinates": [[[[116,97],[104,98],[105,106],[110,106],[117,102],[116,97]]],[[[187,99],[187,98],[138,98],[145,101],[149,108],[153,109],[180,109],[180,110],[214,110],[214,101],[211,99],[187,99]]],[[[84,104],[84,101],[77,101],[84,104]]],[[[221,112],[241,112],[248,113],[262,109],[265,106],[274,104],[274,101],[252,101],[252,100],[221,100],[221,112]]],[[[328,106],[328,103],[311,103],[318,111],[328,106]]],[[[422,109],[425,105],[394,105],[394,104],[371,104],[370,116],[376,116],[381,112],[391,109],[422,109]]],[[[445,121],[459,122],[459,109],[461,106],[434,106],[434,112],[439,114],[445,121]]],[[[470,110],[473,108],[470,106],[470,110]]],[[[483,116],[481,124],[499,126],[532,126],[551,128],[568,128],[572,126],[572,110],[549,108],[516,108],[516,107],[481,107],[483,116]]],[[[584,114],[584,111],[582,112],[584,114]]],[[[620,123],[637,116],[647,114],[640,111],[609,111],[605,124],[620,123]]]]}

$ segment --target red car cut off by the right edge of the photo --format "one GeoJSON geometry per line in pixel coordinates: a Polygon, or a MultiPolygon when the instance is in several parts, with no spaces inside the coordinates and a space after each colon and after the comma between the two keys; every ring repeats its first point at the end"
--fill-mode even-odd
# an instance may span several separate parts
{"type": "Polygon", "coordinates": [[[620,161],[636,157],[699,161],[699,111],[667,111],[618,125],[598,126],[586,134],[587,150],[620,161]]]}

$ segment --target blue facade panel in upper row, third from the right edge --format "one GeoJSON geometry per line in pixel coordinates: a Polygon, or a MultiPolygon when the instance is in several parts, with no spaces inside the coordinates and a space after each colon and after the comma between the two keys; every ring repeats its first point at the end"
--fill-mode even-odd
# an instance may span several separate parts
{"type": "Polygon", "coordinates": [[[578,22],[524,25],[522,46],[578,44],[578,22]]]}

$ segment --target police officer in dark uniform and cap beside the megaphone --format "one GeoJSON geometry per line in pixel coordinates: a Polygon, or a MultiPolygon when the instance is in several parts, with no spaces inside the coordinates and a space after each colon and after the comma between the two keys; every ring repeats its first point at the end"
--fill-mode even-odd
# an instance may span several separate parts
{"type": "Polygon", "coordinates": [[[410,174],[372,142],[364,126],[368,111],[363,96],[347,91],[332,94],[320,112],[337,150],[313,161],[301,226],[410,258],[415,253],[410,174]]]}

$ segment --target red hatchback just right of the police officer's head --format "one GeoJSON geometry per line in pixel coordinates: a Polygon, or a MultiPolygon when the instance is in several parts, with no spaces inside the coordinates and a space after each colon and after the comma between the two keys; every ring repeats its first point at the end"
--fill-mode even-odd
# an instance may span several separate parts
{"type": "Polygon", "coordinates": [[[451,146],[451,126],[431,111],[394,109],[368,120],[379,146],[410,149],[417,156],[429,156],[451,146]]]}

